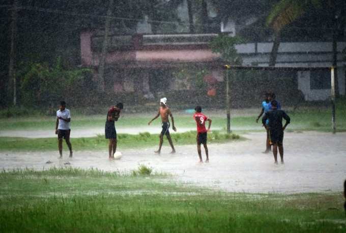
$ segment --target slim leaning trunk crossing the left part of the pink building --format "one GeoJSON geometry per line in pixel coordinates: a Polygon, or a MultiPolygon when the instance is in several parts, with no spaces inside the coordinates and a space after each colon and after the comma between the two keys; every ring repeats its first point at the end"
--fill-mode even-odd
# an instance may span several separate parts
{"type": "Polygon", "coordinates": [[[99,69],[99,82],[98,82],[98,88],[100,91],[104,90],[104,66],[106,63],[106,54],[107,54],[107,46],[108,46],[108,34],[109,34],[109,24],[110,24],[110,16],[112,14],[112,8],[113,8],[113,2],[114,0],[109,0],[108,10],[107,10],[107,17],[106,22],[104,25],[104,39],[103,39],[103,45],[102,45],[102,52],[101,52],[101,60],[100,60],[100,69],[99,69]]]}

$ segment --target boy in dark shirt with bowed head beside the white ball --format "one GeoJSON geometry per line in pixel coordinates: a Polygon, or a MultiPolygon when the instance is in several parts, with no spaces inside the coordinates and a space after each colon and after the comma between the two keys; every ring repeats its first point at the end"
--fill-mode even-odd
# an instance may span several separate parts
{"type": "Polygon", "coordinates": [[[114,153],[117,151],[117,131],[115,121],[118,120],[123,107],[123,103],[118,103],[116,106],[111,107],[107,112],[105,137],[106,139],[109,139],[108,155],[110,159],[114,158],[114,153]]]}

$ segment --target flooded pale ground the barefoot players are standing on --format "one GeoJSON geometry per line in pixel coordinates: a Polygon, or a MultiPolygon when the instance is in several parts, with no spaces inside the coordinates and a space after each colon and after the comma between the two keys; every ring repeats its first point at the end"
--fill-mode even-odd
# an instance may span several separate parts
{"type": "Polygon", "coordinates": [[[210,144],[210,162],[203,164],[197,162],[196,146],[189,145],[177,147],[174,155],[169,154],[167,146],[163,147],[161,155],[153,153],[157,148],[123,150],[120,160],[108,160],[106,148],[99,152],[74,151],[72,159],[68,158],[66,150],[63,159],[58,158],[57,151],[2,152],[0,168],[42,170],[71,166],[126,172],[145,164],[156,172],[174,174],[172,179],[177,181],[226,191],[299,193],[342,190],[346,178],[346,133],[286,132],[285,163],[278,165],[273,163],[272,154],[262,153],[265,132],[243,136],[248,140],[210,144]]]}

